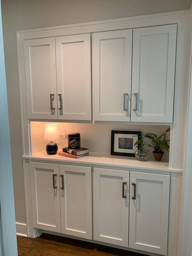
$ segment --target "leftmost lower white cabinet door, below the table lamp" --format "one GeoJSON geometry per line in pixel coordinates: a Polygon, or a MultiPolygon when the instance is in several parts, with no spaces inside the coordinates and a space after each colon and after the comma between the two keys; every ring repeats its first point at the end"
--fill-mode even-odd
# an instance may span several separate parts
{"type": "Polygon", "coordinates": [[[33,226],[61,232],[59,165],[30,163],[33,226]]]}

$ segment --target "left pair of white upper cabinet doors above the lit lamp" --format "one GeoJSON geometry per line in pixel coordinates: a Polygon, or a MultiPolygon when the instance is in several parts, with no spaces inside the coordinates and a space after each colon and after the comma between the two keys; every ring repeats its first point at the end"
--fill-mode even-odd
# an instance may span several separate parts
{"type": "Polygon", "coordinates": [[[91,120],[90,34],[24,41],[28,118],[91,120]]]}

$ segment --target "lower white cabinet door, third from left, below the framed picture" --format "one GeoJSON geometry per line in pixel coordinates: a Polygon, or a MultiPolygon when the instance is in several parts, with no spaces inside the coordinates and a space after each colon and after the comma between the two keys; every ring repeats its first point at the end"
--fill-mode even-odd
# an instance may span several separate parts
{"type": "Polygon", "coordinates": [[[94,168],[94,240],[128,246],[129,172],[94,168]]]}

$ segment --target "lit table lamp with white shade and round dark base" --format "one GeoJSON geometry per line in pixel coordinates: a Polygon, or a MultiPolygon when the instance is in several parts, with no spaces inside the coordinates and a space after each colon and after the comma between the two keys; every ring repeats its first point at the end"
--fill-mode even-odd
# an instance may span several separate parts
{"type": "Polygon", "coordinates": [[[58,146],[55,140],[59,140],[59,126],[58,124],[45,124],[44,140],[50,141],[46,146],[46,152],[49,155],[56,154],[58,146]]]}

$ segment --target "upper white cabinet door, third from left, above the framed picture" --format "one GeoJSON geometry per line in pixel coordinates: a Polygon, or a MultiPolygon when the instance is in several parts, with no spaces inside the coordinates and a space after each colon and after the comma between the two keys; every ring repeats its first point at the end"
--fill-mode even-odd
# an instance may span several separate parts
{"type": "Polygon", "coordinates": [[[132,29],[93,34],[93,119],[130,121],[132,29]]]}

